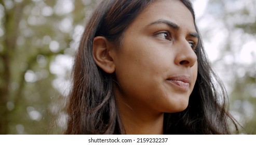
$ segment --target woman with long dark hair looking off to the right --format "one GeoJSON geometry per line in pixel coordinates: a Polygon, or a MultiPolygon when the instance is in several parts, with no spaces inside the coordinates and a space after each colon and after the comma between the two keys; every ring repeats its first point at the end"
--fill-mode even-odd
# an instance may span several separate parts
{"type": "Polygon", "coordinates": [[[187,0],[102,1],[80,41],[65,134],[231,134],[187,0]]]}

